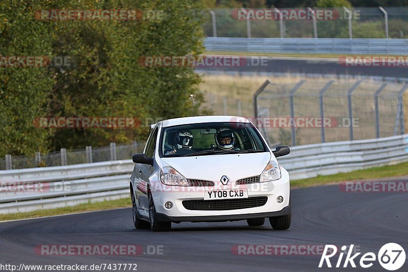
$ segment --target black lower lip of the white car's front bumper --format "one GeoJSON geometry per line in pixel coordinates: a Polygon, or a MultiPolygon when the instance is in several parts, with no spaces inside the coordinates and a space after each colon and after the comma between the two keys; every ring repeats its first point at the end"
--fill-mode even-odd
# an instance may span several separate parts
{"type": "Polygon", "coordinates": [[[275,217],[288,215],[291,213],[291,206],[287,206],[280,211],[276,212],[261,212],[261,213],[249,213],[249,214],[229,214],[229,215],[212,215],[212,216],[168,216],[163,213],[156,213],[156,220],[163,222],[225,222],[225,221],[238,221],[249,218],[261,218],[261,217],[275,217]]]}

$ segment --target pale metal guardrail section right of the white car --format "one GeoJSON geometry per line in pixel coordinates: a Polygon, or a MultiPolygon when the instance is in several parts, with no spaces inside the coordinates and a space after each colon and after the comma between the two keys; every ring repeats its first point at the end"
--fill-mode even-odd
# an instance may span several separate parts
{"type": "Polygon", "coordinates": [[[291,180],[408,161],[408,134],[379,139],[328,142],[291,147],[278,158],[291,180]]]}

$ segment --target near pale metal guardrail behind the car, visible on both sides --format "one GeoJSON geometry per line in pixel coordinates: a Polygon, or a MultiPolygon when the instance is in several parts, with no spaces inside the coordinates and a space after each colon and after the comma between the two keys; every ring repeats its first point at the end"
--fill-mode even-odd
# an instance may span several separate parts
{"type": "MultiPolygon", "coordinates": [[[[300,145],[278,158],[292,180],[408,161],[408,134],[300,145]]],[[[129,197],[131,160],[0,171],[0,213],[129,197]]]]}

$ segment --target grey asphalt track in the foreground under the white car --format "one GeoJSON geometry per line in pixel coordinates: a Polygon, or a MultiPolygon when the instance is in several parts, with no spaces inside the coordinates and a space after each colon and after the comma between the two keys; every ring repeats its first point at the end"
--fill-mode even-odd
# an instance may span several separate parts
{"type": "MultiPolygon", "coordinates": [[[[173,224],[170,232],[154,233],[134,229],[130,208],[2,222],[1,263],[136,263],[138,271],[315,271],[320,256],[242,256],[231,249],[238,244],[335,244],[339,248],[355,244],[363,254],[377,254],[389,242],[408,248],[406,193],[341,192],[330,185],[292,190],[291,199],[292,226],[287,231],[272,230],[269,221],[262,227],[236,221],[173,224]],[[41,256],[34,253],[40,244],[138,244],[144,253],[147,245],[163,245],[163,255],[41,256]]],[[[335,256],[331,263],[336,262],[335,256]]],[[[407,265],[400,270],[406,271],[407,265]]],[[[368,270],[372,269],[384,271],[378,261],[368,270]]],[[[341,270],[367,269],[349,265],[341,270]]]]}

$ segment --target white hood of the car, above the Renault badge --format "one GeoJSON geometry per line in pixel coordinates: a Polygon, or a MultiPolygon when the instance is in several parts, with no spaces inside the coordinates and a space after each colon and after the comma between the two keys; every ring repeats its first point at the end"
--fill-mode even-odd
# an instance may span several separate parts
{"type": "Polygon", "coordinates": [[[271,154],[264,152],[161,159],[187,179],[219,182],[224,175],[230,181],[261,175],[271,154]]]}

